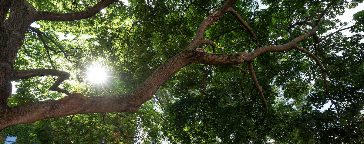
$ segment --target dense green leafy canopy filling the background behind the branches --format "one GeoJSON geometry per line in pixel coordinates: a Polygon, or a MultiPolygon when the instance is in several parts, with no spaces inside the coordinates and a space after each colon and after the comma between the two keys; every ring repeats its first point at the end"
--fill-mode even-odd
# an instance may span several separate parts
{"type": "MultiPolygon", "coordinates": [[[[70,13],[84,11],[98,1],[28,2],[37,10],[70,13]]],[[[315,60],[304,52],[290,49],[267,52],[254,59],[255,74],[268,104],[266,118],[264,102],[246,62],[238,66],[247,70],[247,74],[228,65],[210,67],[193,63],[163,83],[136,114],[88,113],[48,118],[25,125],[27,129],[23,130],[30,134],[26,139],[39,144],[100,143],[102,140],[144,144],[363,143],[364,10],[356,13],[351,23],[335,19],[345,9],[355,8],[361,2],[263,0],[268,8],[262,8],[257,1],[237,1],[232,7],[252,28],[257,43],[230,13],[207,27],[203,35],[204,39],[215,42],[216,53],[251,52],[256,47],[288,43],[312,29],[299,22],[317,23],[317,36],[310,36],[297,45],[322,62],[336,106],[327,95],[323,73],[315,60]],[[336,32],[347,27],[352,34],[336,32]]],[[[223,3],[217,0],[135,0],[128,4],[119,1],[87,19],[37,21],[31,26],[42,33],[45,44],[37,31],[29,29],[14,69],[67,71],[71,77],[60,87],[87,97],[128,93],[163,62],[183,51],[201,22],[223,3]],[[107,70],[107,81],[87,80],[90,68],[95,66],[107,70]]],[[[213,52],[209,45],[198,48],[213,52]]],[[[55,79],[40,76],[15,80],[17,90],[7,99],[8,105],[65,97],[63,93],[48,90],[55,79]]],[[[13,135],[12,129],[25,126],[8,127],[1,133],[13,135]]],[[[20,135],[18,138],[23,139],[20,135]]]]}

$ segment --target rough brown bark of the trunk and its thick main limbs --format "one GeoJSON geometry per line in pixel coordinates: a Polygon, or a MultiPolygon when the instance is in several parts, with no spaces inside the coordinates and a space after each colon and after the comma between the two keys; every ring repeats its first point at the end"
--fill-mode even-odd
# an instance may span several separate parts
{"type": "MultiPolygon", "coordinates": [[[[54,101],[30,102],[18,106],[8,107],[7,98],[12,92],[12,79],[31,78],[39,75],[55,75],[59,79],[67,79],[68,73],[57,70],[33,69],[15,71],[13,63],[16,59],[25,32],[29,25],[37,20],[71,21],[85,19],[99,12],[100,9],[114,3],[115,0],[102,0],[90,9],[75,13],[52,13],[36,11],[34,7],[23,0],[0,0],[0,131],[6,127],[43,120],[51,117],[63,117],[79,113],[103,113],[103,112],[128,112],[135,113],[139,106],[148,101],[168,78],[176,71],[191,63],[203,63],[207,65],[237,65],[244,61],[253,61],[258,55],[271,51],[286,51],[297,46],[297,42],[315,34],[317,26],[311,32],[293,39],[290,43],[281,46],[264,46],[253,52],[237,52],[233,54],[211,54],[204,50],[195,50],[199,44],[215,44],[210,40],[203,40],[202,35],[207,26],[213,25],[219,20],[236,0],[228,0],[226,3],[207,17],[196,32],[195,38],[185,48],[169,61],[159,66],[137,89],[126,94],[102,95],[97,97],[85,97],[81,93],[54,101]],[[4,21],[8,11],[10,15],[4,21]],[[9,118],[11,117],[11,119],[9,118]]],[[[236,13],[234,14],[237,15],[236,13]]],[[[246,24],[246,23],[245,23],[246,24]]],[[[255,36],[255,35],[254,35],[255,36]]],[[[57,81],[51,90],[57,90],[61,80],[57,81]]],[[[60,91],[59,91],[60,92],[60,91]]],[[[65,92],[64,92],[65,93],[65,92]]]]}

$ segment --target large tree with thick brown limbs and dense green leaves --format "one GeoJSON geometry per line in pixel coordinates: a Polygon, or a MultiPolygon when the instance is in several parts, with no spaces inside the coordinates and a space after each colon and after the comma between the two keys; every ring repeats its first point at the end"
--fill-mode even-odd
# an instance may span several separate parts
{"type": "Polygon", "coordinates": [[[171,143],[359,143],[364,13],[352,26],[333,19],[362,1],[263,2],[1,0],[0,129],[52,117],[67,129],[97,119],[70,115],[101,113],[120,133],[129,116],[148,121],[171,143]],[[97,61],[114,78],[92,89],[83,77],[97,61]]]}

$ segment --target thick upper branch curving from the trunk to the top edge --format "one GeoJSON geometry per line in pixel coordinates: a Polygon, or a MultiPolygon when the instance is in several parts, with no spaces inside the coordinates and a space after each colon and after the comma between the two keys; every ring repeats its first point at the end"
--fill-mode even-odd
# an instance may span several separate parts
{"type": "Polygon", "coordinates": [[[73,13],[54,13],[49,11],[31,11],[28,14],[28,18],[31,22],[39,20],[50,20],[50,21],[73,21],[86,19],[88,17],[94,16],[96,13],[100,12],[103,8],[116,2],[118,0],[101,0],[93,7],[87,9],[86,11],[73,12],[73,13]]]}

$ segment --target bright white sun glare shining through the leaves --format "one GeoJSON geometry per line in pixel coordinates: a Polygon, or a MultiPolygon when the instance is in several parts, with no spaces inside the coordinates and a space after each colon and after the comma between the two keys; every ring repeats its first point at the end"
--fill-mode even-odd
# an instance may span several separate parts
{"type": "Polygon", "coordinates": [[[100,66],[94,66],[88,69],[87,78],[94,83],[103,83],[107,79],[106,70],[100,66]]]}

